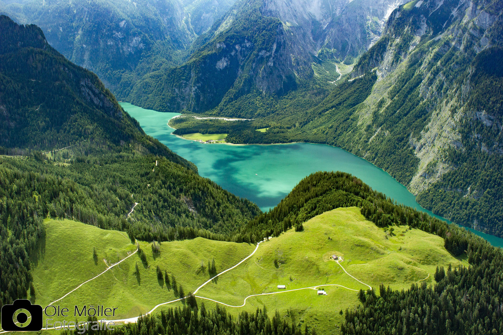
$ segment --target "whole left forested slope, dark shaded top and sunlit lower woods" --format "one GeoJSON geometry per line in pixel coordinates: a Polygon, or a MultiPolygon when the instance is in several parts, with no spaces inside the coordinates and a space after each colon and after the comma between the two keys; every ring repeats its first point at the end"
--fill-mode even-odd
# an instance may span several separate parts
{"type": "Polygon", "coordinates": [[[27,297],[45,217],[159,241],[231,239],[261,212],[146,136],[39,27],[0,16],[0,40],[1,303],[27,297]]]}

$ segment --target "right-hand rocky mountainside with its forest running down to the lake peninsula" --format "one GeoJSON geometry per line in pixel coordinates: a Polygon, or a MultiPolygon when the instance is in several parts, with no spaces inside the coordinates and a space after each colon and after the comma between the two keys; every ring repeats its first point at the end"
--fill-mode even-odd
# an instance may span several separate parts
{"type": "MultiPolygon", "coordinates": [[[[299,107],[290,94],[253,122],[211,129],[231,143],[342,147],[388,171],[436,214],[503,236],[501,13],[497,1],[409,2],[391,14],[352,79],[336,81],[321,102],[299,107]]],[[[179,134],[210,129],[177,122],[179,134]]]]}

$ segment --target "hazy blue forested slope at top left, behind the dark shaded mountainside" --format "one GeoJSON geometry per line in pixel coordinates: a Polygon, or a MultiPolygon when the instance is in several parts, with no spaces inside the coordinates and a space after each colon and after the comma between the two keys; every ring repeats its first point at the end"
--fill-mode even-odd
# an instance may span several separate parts
{"type": "Polygon", "coordinates": [[[0,14],[36,24],[57,51],[94,71],[123,99],[136,80],[181,64],[197,36],[225,14],[233,0],[91,2],[0,1],[0,14]]]}

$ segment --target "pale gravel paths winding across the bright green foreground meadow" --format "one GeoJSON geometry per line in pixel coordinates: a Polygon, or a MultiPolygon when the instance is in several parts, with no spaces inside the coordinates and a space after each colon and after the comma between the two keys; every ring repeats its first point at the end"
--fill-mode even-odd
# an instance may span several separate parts
{"type": "MultiPolygon", "coordinates": [[[[134,206],[133,206],[133,209],[134,209],[134,206]]],[[[131,210],[132,212],[132,210],[131,210]]],[[[267,241],[267,240],[265,240],[267,241]]],[[[201,286],[199,286],[195,291],[194,291],[194,296],[196,296],[197,298],[200,298],[200,299],[205,299],[205,300],[210,300],[210,301],[213,301],[213,302],[216,302],[216,303],[219,303],[219,304],[222,304],[222,305],[225,305],[225,306],[228,306],[228,307],[234,307],[234,308],[239,308],[239,307],[243,307],[245,304],[246,304],[246,300],[250,297],[255,297],[255,296],[261,296],[261,295],[272,295],[272,294],[279,294],[279,293],[286,293],[286,292],[293,292],[293,291],[299,291],[299,290],[306,290],[306,289],[312,289],[312,290],[315,290],[317,287],[325,287],[325,286],[339,286],[339,287],[343,287],[345,289],[348,289],[348,290],[351,290],[351,291],[357,291],[358,290],[355,290],[355,289],[352,289],[352,288],[349,288],[349,287],[346,287],[346,286],[343,286],[343,285],[338,285],[338,284],[325,284],[325,285],[316,285],[316,286],[310,286],[310,287],[302,287],[302,288],[297,288],[297,289],[293,289],[293,290],[286,290],[286,291],[278,291],[278,292],[269,292],[269,293],[261,293],[261,294],[252,294],[252,295],[248,295],[247,297],[244,298],[244,301],[243,301],[243,304],[240,305],[240,306],[233,306],[233,305],[228,305],[224,302],[221,302],[221,301],[218,301],[218,300],[213,300],[213,299],[210,299],[210,298],[206,298],[206,297],[202,297],[202,296],[199,296],[199,295],[196,295],[197,291],[199,291],[201,288],[203,288],[205,285],[207,285],[208,283],[210,283],[213,279],[215,279],[216,277],[218,276],[221,276],[222,274],[226,273],[227,271],[230,271],[234,268],[236,268],[237,266],[239,266],[240,264],[242,264],[244,261],[246,261],[247,259],[249,259],[251,256],[253,256],[257,250],[259,249],[259,246],[261,243],[265,242],[265,241],[261,241],[259,243],[257,243],[257,247],[255,248],[255,250],[253,251],[253,253],[249,254],[246,258],[244,258],[242,261],[240,261],[239,263],[237,263],[236,265],[234,265],[233,267],[230,267],[228,268],[227,270],[224,270],[220,273],[218,273],[217,275],[215,275],[214,277],[208,279],[206,282],[204,282],[201,286]]],[[[114,266],[116,265],[119,265],[120,263],[122,263],[123,261],[125,261],[126,259],[128,259],[129,257],[133,256],[134,254],[136,254],[136,252],[138,251],[138,248],[136,248],[136,250],[131,253],[131,255],[125,257],[124,259],[122,259],[121,261],[115,263],[115,264],[112,264],[111,266],[109,266],[105,271],[103,271],[102,273],[100,273],[99,275],[97,275],[96,277],[93,277],[85,282],[83,282],[82,284],[78,285],[77,287],[75,287],[73,290],[71,290],[70,292],[66,293],[65,295],[63,295],[61,298],[57,299],[57,300],[54,300],[53,302],[51,302],[49,304],[52,305],[53,303],[63,299],[64,297],[66,297],[68,294],[72,293],[73,291],[75,291],[76,289],[78,289],[80,286],[98,278],[99,276],[101,276],[102,274],[104,274],[105,272],[107,272],[108,270],[110,270],[111,268],[113,268],[114,266]]],[[[344,272],[346,272],[346,274],[348,274],[350,277],[352,277],[353,279],[357,280],[358,282],[368,286],[370,289],[372,289],[372,287],[368,284],[365,284],[364,282],[356,279],[355,277],[353,277],[352,275],[350,275],[346,269],[339,263],[339,262],[336,262],[337,264],[339,264],[339,266],[344,270],[344,272]]],[[[171,300],[171,301],[166,301],[166,302],[163,302],[163,303],[160,303],[158,305],[155,305],[150,311],[148,311],[147,313],[145,313],[145,315],[147,314],[151,314],[155,309],[157,309],[158,307],[162,306],[162,305],[167,305],[167,304],[170,304],[170,303],[173,303],[173,302],[177,302],[177,301],[180,301],[180,300],[183,300],[185,299],[186,297],[183,297],[183,298],[178,298],[178,299],[175,299],[175,300],[171,300]]],[[[125,318],[125,319],[117,319],[117,320],[106,320],[105,322],[106,323],[111,323],[113,322],[114,324],[118,323],[118,322],[124,322],[124,323],[130,323],[130,322],[137,322],[138,321],[138,318],[139,316],[135,316],[135,317],[130,317],[130,318],[125,318]]],[[[54,327],[51,327],[51,328],[42,328],[42,330],[50,330],[50,329],[56,329],[54,327]]],[[[1,330],[1,329],[0,329],[1,330]]],[[[59,329],[58,329],[59,330],[59,329]]],[[[3,334],[3,333],[6,333],[6,332],[9,332],[9,331],[0,331],[0,334],[3,334]]]]}

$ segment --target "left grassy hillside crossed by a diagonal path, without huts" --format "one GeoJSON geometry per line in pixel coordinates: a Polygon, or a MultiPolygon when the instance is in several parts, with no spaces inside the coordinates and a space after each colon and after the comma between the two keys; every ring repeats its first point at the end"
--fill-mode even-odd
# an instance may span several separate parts
{"type": "MultiPolygon", "coordinates": [[[[32,257],[36,293],[32,301],[42,306],[59,299],[136,250],[127,235],[119,231],[102,230],[67,219],[49,219],[44,224],[46,238],[41,242],[40,253],[32,257]],[[96,258],[93,257],[94,250],[96,258]]],[[[96,306],[99,303],[118,307],[116,319],[138,316],[156,304],[178,296],[178,290],[168,288],[164,281],[157,280],[157,265],[162,274],[167,271],[171,282],[174,275],[178,285],[181,284],[188,293],[209,279],[208,260],[214,259],[217,270],[221,271],[238,263],[255,249],[248,244],[203,238],[162,242],[158,255],[152,253],[151,243],[139,241],[139,246],[147,256],[146,263],[142,263],[137,253],[56,305],[96,306]],[[139,274],[135,273],[136,264],[139,274]]],[[[71,315],[66,319],[73,320],[73,313],[71,315]]],[[[54,320],[57,319],[57,316],[54,317],[54,320]]]]}

